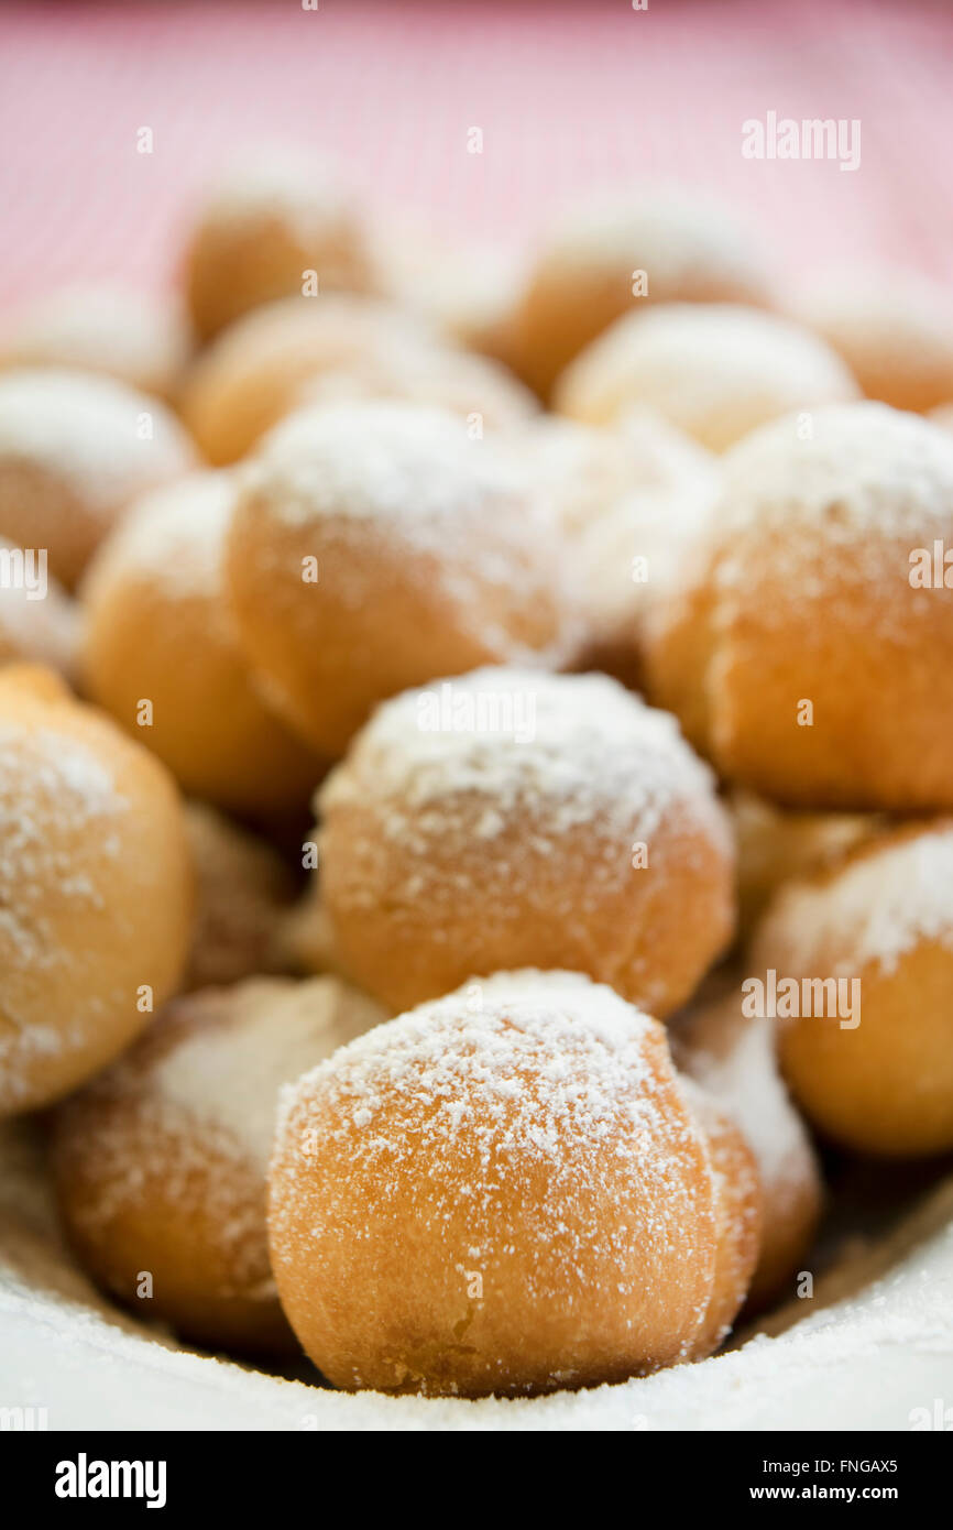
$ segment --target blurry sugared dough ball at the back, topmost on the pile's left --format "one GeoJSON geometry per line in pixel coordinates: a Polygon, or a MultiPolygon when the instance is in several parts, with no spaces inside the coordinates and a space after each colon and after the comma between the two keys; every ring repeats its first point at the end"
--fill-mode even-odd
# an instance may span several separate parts
{"type": "Polygon", "coordinates": [[[337,173],[280,155],[226,170],[185,251],[199,335],[208,340],[248,309],[301,294],[309,272],[318,294],[363,292],[372,280],[367,231],[337,173]]]}

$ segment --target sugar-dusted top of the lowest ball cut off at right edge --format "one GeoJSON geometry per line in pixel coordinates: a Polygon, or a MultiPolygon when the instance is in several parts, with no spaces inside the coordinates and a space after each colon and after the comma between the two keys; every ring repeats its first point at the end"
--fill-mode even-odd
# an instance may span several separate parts
{"type": "Polygon", "coordinates": [[[901,829],[861,848],[815,881],[791,883],[771,903],[756,950],[780,946],[795,973],[884,973],[921,942],[953,950],[953,822],[901,829]]]}

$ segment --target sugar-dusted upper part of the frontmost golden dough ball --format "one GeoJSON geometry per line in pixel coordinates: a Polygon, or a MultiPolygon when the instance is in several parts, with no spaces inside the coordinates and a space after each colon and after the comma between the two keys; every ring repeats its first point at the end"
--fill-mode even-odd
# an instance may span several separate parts
{"type": "MultiPolygon", "coordinates": [[[[701,1218],[704,1232],[710,1216],[704,1167],[699,1184],[684,1177],[682,1155],[698,1160],[704,1148],[662,1028],[578,973],[465,987],[306,1073],[281,1091],[277,1157],[288,1169],[291,1148],[292,1174],[297,1163],[307,1175],[315,1135],[320,1143],[309,1131],[315,1105],[329,1112],[335,1151],[346,1138],[355,1180],[411,1175],[430,1229],[448,1206],[470,1204],[477,1264],[512,1239],[538,1239],[538,1294],[551,1294],[561,1270],[571,1305],[586,1264],[604,1259],[620,1261],[618,1294],[633,1294],[624,1273],[633,1218],[641,1256],[661,1270],[687,1221],[701,1218]],[[548,1186],[534,1204],[514,1180],[528,1164],[548,1186]]],[[[294,1200],[272,1200],[275,1215],[294,1218],[294,1200]]]]}

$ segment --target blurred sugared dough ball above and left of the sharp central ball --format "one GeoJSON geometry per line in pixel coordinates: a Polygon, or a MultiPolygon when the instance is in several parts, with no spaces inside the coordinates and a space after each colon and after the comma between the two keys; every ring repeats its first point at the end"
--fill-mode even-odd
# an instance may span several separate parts
{"type": "Polygon", "coordinates": [[[561,543],[523,477],[444,410],[304,410],[245,471],[226,551],[239,633],[315,750],[384,698],[577,635],[561,543]]]}

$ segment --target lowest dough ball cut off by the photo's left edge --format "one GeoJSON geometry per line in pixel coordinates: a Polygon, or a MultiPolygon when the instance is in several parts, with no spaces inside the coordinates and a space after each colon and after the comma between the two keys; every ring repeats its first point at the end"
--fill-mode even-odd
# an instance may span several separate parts
{"type": "Polygon", "coordinates": [[[191,875],[164,767],[50,672],[0,670],[0,1115],[60,1099],[174,990],[191,875]]]}

